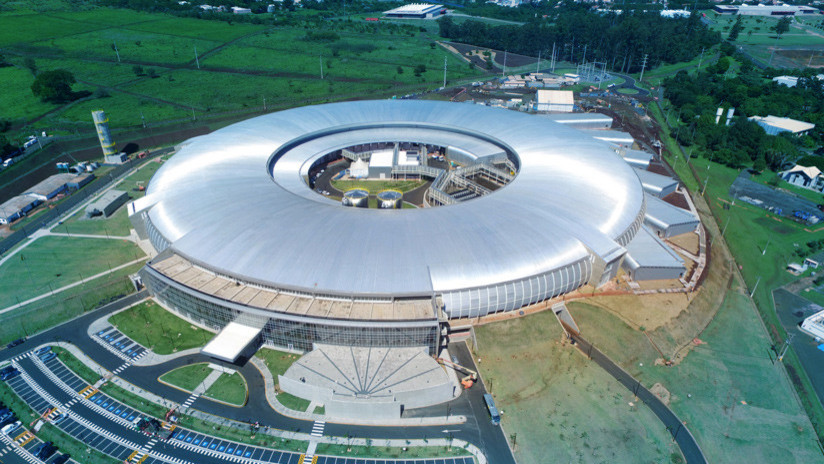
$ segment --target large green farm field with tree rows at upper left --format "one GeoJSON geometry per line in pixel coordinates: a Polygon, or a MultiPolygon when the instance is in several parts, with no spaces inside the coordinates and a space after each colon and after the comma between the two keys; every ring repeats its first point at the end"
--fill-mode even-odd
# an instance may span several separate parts
{"type": "MultiPolygon", "coordinates": [[[[167,124],[356,98],[385,98],[471,79],[480,72],[411,25],[323,20],[294,13],[272,26],[178,18],[113,8],[71,11],[59,0],[31,11],[12,2],[0,16],[3,116],[27,130],[87,132],[90,112],[113,128],[167,124]],[[321,60],[323,76],[321,77],[321,60]],[[66,69],[71,104],[43,103],[29,87],[36,72],[66,69]],[[38,119],[39,118],[39,119],[38,119]]],[[[268,17],[268,16],[267,16],[268,17]]]]}

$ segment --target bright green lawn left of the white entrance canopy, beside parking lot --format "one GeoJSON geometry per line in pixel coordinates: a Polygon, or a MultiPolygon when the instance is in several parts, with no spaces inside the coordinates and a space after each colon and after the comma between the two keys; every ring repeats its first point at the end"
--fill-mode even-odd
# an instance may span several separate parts
{"type": "Polygon", "coordinates": [[[132,340],[157,354],[171,354],[205,345],[214,334],[190,324],[153,300],[144,301],[109,318],[132,340]]]}

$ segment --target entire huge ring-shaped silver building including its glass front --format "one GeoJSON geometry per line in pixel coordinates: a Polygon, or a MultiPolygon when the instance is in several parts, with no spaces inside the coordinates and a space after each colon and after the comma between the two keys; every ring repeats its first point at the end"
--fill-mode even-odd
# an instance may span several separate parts
{"type": "Polygon", "coordinates": [[[291,109],[191,139],[130,215],[159,252],[144,281],[196,322],[248,319],[296,349],[434,349],[439,320],[602,285],[644,210],[632,168],[583,132],[509,110],[393,100],[291,109]],[[382,178],[431,181],[427,207],[347,208],[311,188],[318,166],[364,163],[352,147],[370,144],[394,144],[382,178]],[[423,147],[407,152],[419,164],[399,161],[404,144],[423,147]],[[433,166],[433,147],[449,162],[433,166]]]}

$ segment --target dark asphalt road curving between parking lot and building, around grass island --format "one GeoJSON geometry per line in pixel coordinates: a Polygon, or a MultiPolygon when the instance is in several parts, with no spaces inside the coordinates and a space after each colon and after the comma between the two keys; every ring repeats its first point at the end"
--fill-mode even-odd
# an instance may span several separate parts
{"type": "MultiPolygon", "coordinates": [[[[54,341],[67,341],[75,344],[102,367],[109,371],[113,371],[124,364],[123,360],[92,340],[87,333],[87,327],[94,320],[124,308],[130,304],[136,303],[147,296],[148,293],[144,290],[140,293],[127,296],[95,311],[89,312],[65,324],[40,334],[33,335],[26,343],[20,346],[12,349],[1,350],[0,361],[24,354],[29,351],[31,347],[40,344],[54,341]]],[[[464,355],[461,354],[460,345],[458,345],[456,350],[458,352],[459,359],[461,359],[462,362],[471,362],[471,359],[464,359],[464,357],[468,358],[469,355],[468,352],[464,355]]],[[[464,350],[466,350],[465,347],[464,350]]],[[[131,382],[144,390],[153,392],[175,403],[183,403],[186,398],[188,398],[188,394],[159,383],[157,381],[157,377],[161,373],[175,367],[191,362],[202,361],[220,364],[220,361],[198,354],[178,358],[157,366],[129,366],[128,368],[120,371],[118,375],[124,380],[127,380],[128,382],[131,382]]],[[[238,369],[237,366],[232,367],[238,369]]],[[[209,414],[222,416],[237,421],[250,422],[254,419],[255,421],[259,421],[261,425],[272,428],[302,432],[306,434],[309,434],[312,431],[312,426],[314,425],[312,421],[298,420],[283,416],[278,414],[269,406],[264,394],[263,377],[260,372],[254,368],[254,366],[251,364],[246,364],[240,367],[239,370],[246,377],[250,390],[249,401],[244,407],[235,408],[225,406],[205,399],[196,400],[193,407],[209,414]]],[[[461,395],[461,397],[457,400],[450,402],[449,408],[452,411],[451,413],[468,415],[474,412],[475,416],[485,418],[486,410],[482,402],[483,391],[480,387],[481,385],[478,385],[478,388],[473,388],[468,395],[461,395]]],[[[446,407],[446,405],[440,406],[442,409],[436,412],[437,415],[444,415],[443,408],[446,407]]],[[[414,415],[414,411],[411,411],[411,413],[411,415],[414,415]]],[[[503,433],[500,432],[499,428],[492,427],[490,424],[487,424],[487,421],[484,419],[476,420],[470,418],[466,424],[449,427],[369,427],[329,422],[326,424],[325,434],[330,436],[352,436],[373,439],[420,439],[444,438],[446,434],[443,430],[456,430],[452,433],[454,438],[465,440],[478,446],[487,455],[490,463],[514,464],[515,462],[509,451],[509,447],[503,433]]]]}

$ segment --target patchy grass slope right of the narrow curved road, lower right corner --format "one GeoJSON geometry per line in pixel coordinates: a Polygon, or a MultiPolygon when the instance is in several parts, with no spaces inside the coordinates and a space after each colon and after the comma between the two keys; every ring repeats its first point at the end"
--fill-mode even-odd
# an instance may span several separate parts
{"type": "Polygon", "coordinates": [[[585,338],[647,387],[661,383],[709,462],[805,462],[821,458],[815,431],[795,400],[744,289],[733,285],[696,346],[674,367],[637,330],[589,305],[570,305],[585,338]],[[643,366],[641,366],[643,364],[643,366]]]}

